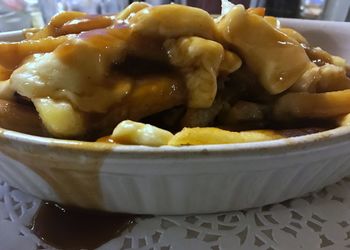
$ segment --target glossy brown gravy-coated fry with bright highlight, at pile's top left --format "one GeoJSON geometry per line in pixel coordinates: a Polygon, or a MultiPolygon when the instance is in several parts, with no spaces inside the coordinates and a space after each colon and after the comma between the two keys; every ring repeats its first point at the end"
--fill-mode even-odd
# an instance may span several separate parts
{"type": "Polygon", "coordinates": [[[55,15],[44,29],[34,33],[30,39],[39,40],[49,36],[79,34],[83,31],[107,28],[114,22],[114,16],[93,16],[75,11],[61,12],[55,15]]]}

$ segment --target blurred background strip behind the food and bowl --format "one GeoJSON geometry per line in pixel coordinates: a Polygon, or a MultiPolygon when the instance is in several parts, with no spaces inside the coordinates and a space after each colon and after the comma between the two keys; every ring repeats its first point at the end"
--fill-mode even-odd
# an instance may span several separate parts
{"type": "MultiPolygon", "coordinates": [[[[91,14],[120,11],[130,0],[0,0],[0,32],[42,27],[64,10],[91,14]]],[[[219,14],[220,0],[145,0],[153,5],[175,2],[219,14]]],[[[231,0],[246,7],[265,7],[268,15],[333,21],[350,21],[350,0],[231,0]]]]}

